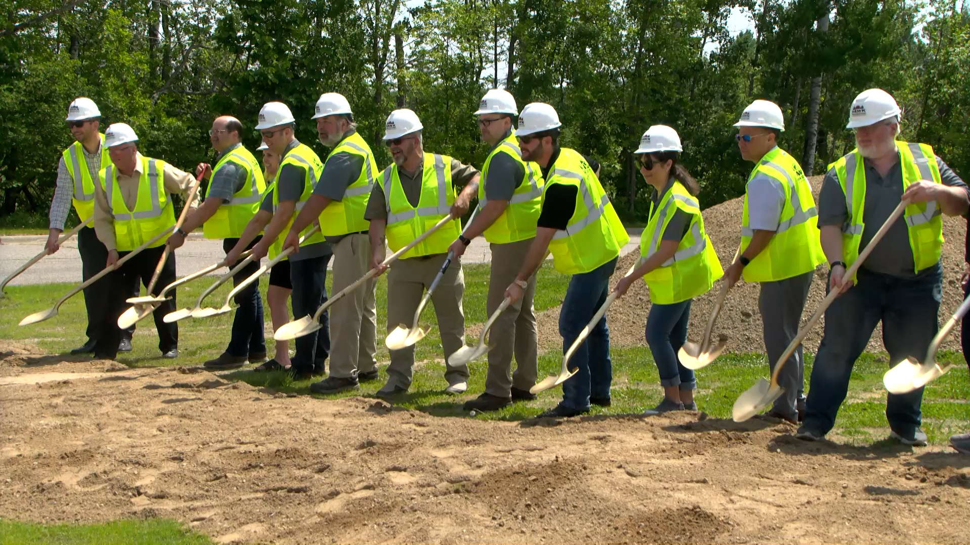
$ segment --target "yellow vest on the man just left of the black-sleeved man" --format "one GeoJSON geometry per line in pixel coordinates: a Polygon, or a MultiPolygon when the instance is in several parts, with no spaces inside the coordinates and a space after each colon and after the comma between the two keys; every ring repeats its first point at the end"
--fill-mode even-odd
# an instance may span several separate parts
{"type": "Polygon", "coordinates": [[[504,153],[521,164],[525,170],[525,175],[522,178],[522,183],[512,193],[512,199],[508,202],[508,206],[501,212],[498,219],[485,230],[483,235],[485,240],[495,244],[533,239],[535,237],[535,222],[538,221],[539,212],[542,210],[542,187],[545,183],[542,180],[542,171],[538,163],[527,163],[522,160],[522,150],[519,149],[519,144],[517,144],[514,129],[512,134],[495,146],[495,149],[485,159],[485,166],[482,167],[482,181],[478,185],[479,206],[485,208],[485,205],[488,204],[488,199],[485,198],[488,168],[492,163],[492,158],[499,153],[504,153]]]}

